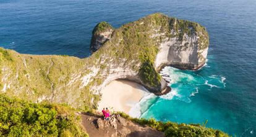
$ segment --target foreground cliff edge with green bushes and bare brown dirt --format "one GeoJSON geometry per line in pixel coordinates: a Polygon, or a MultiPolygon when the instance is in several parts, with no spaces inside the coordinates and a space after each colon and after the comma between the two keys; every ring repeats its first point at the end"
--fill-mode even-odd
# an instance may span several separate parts
{"type": "Polygon", "coordinates": [[[67,105],[31,103],[0,93],[0,136],[228,136],[199,124],[134,119],[122,112],[109,120],[67,105]]]}

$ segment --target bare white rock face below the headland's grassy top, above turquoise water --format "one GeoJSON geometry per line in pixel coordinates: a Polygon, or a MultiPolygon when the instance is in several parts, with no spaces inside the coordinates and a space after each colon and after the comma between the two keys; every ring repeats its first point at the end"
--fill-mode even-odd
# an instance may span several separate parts
{"type": "MultiPolygon", "coordinates": [[[[157,35],[155,34],[155,36],[157,35]]],[[[184,34],[182,42],[177,37],[163,40],[155,60],[156,69],[160,69],[164,65],[181,69],[198,69],[203,66],[207,58],[208,47],[199,50],[198,39],[199,37],[196,35],[189,37],[184,34]]]]}

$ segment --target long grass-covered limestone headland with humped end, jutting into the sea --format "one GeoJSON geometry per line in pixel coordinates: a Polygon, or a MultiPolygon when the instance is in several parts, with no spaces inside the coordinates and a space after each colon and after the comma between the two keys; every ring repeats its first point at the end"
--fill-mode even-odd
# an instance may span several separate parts
{"type": "Polygon", "coordinates": [[[25,55],[0,48],[0,92],[40,102],[95,108],[115,79],[142,84],[156,95],[169,90],[158,71],[166,65],[197,69],[205,63],[208,34],[198,23],[153,14],[114,29],[99,23],[91,57],[25,55]]]}

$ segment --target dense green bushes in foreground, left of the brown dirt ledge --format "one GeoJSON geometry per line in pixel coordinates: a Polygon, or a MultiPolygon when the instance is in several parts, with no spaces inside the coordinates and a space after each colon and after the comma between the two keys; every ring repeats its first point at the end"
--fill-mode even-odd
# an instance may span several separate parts
{"type": "Polygon", "coordinates": [[[88,136],[75,109],[0,94],[0,136],[88,136]]]}

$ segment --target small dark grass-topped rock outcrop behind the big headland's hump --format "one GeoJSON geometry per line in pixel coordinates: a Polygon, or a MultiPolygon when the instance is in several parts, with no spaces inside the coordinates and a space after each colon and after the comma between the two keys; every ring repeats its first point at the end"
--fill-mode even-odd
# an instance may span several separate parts
{"type": "Polygon", "coordinates": [[[114,28],[109,25],[109,23],[101,22],[95,26],[92,33],[92,39],[90,44],[91,53],[96,52],[100,47],[109,39],[111,39],[111,34],[114,28]]]}

